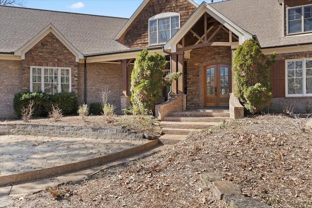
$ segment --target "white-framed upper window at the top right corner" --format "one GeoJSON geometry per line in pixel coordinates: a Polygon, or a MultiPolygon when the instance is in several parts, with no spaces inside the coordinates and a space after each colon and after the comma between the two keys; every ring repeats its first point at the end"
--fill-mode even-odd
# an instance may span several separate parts
{"type": "Polygon", "coordinates": [[[287,8],[287,33],[312,32],[312,4],[287,8]]]}

